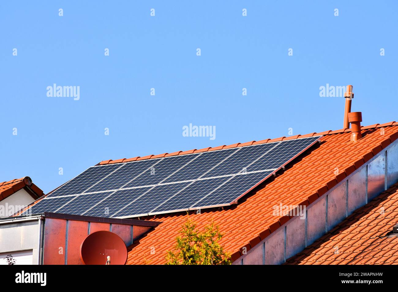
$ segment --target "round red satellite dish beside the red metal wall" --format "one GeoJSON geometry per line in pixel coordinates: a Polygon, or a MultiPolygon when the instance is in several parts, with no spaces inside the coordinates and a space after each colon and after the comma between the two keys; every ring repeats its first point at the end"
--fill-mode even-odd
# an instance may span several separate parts
{"type": "Polygon", "coordinates": [[[85,265],[124,265],[127,261],[127,248],[117,234],[97,231],[83,240],[80,258],[85,265]]]}

